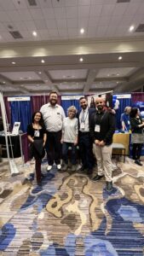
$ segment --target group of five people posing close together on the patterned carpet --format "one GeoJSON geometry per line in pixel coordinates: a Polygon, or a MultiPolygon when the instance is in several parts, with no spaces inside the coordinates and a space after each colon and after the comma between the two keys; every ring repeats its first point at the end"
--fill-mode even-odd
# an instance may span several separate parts
{"type": "Polygon", "coordinates": [[[96,159],[98,172],[92,178],[93,182],[105,177],[107,190],[112,190],[112,136],[115,131],[115,114],[107,110],[102,97],[95,99],[95,108],[89,108],[87,99],[82,96],[79,99],[81,111],[77,113],[77,109],[71,106],[67,109],[67,117],[57,102],[57,93],[50,92],[49,103],[33,114],[32,124],[27,127],[27,136],[36,160],[37,183],[41,183],[43,148],[46,149],[49,172],[54,163],[59,171],[66,171],[68,149],[71,147],[73,172],[76,171],[78,146],[82,162],[82,168],[78,172],[92,177],[96,159]]]}

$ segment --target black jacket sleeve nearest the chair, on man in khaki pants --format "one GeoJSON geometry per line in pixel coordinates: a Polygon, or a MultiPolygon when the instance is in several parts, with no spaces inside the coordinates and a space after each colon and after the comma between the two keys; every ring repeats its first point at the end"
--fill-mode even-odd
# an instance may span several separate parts
{"type": "Polygon", "coordinates": [[[116,129],[116,119],[115,119],[115,115],[112,113],[108,113],[108,122],[109,122],[109,129],[107,131],[107,134],[105,136],[105,138],[103,139],[103,141],[105,143],[107,143],[107,141],[111,141],[112,136],[114,134],[114,131],[116,129]]]}

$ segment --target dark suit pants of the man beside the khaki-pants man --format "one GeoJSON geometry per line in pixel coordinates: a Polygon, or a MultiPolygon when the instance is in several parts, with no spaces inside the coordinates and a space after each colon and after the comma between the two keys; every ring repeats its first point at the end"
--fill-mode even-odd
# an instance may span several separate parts
{"type": "Polygon", "coordinates": [[[93,143],[89,132],[79,133],[79,154],[84,168],[93,169],[95,164],[94,154],[92,152],[93,143]]]}

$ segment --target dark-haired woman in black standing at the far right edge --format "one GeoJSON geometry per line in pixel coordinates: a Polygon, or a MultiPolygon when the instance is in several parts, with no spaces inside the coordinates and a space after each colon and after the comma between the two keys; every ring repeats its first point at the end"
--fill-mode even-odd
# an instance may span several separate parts
{"type": "MultiPolygon", "coordinates": [[[[144,122],[142,122],[139,108],[131,108],[130,111],[130,125],[131,125],[131,132],[132,133],[143,133],[144,129],[144,122]]],[[[135,164],[138,166],[142,166],[141,164],[141,149],[142,149],[142,143],[133,143],[132,148],[132,157],[133,160],[135,160],[135,164]]]]}

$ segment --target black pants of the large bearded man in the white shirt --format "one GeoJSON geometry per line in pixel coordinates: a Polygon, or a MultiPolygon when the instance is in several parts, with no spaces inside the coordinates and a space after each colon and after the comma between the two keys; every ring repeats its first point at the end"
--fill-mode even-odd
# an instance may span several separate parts
{"type": "Polygon", "coordinates": [[[47,131],[47,142],[45,145],[49,166],[60,165],[61,157],[61,131],[47,131]]]}

